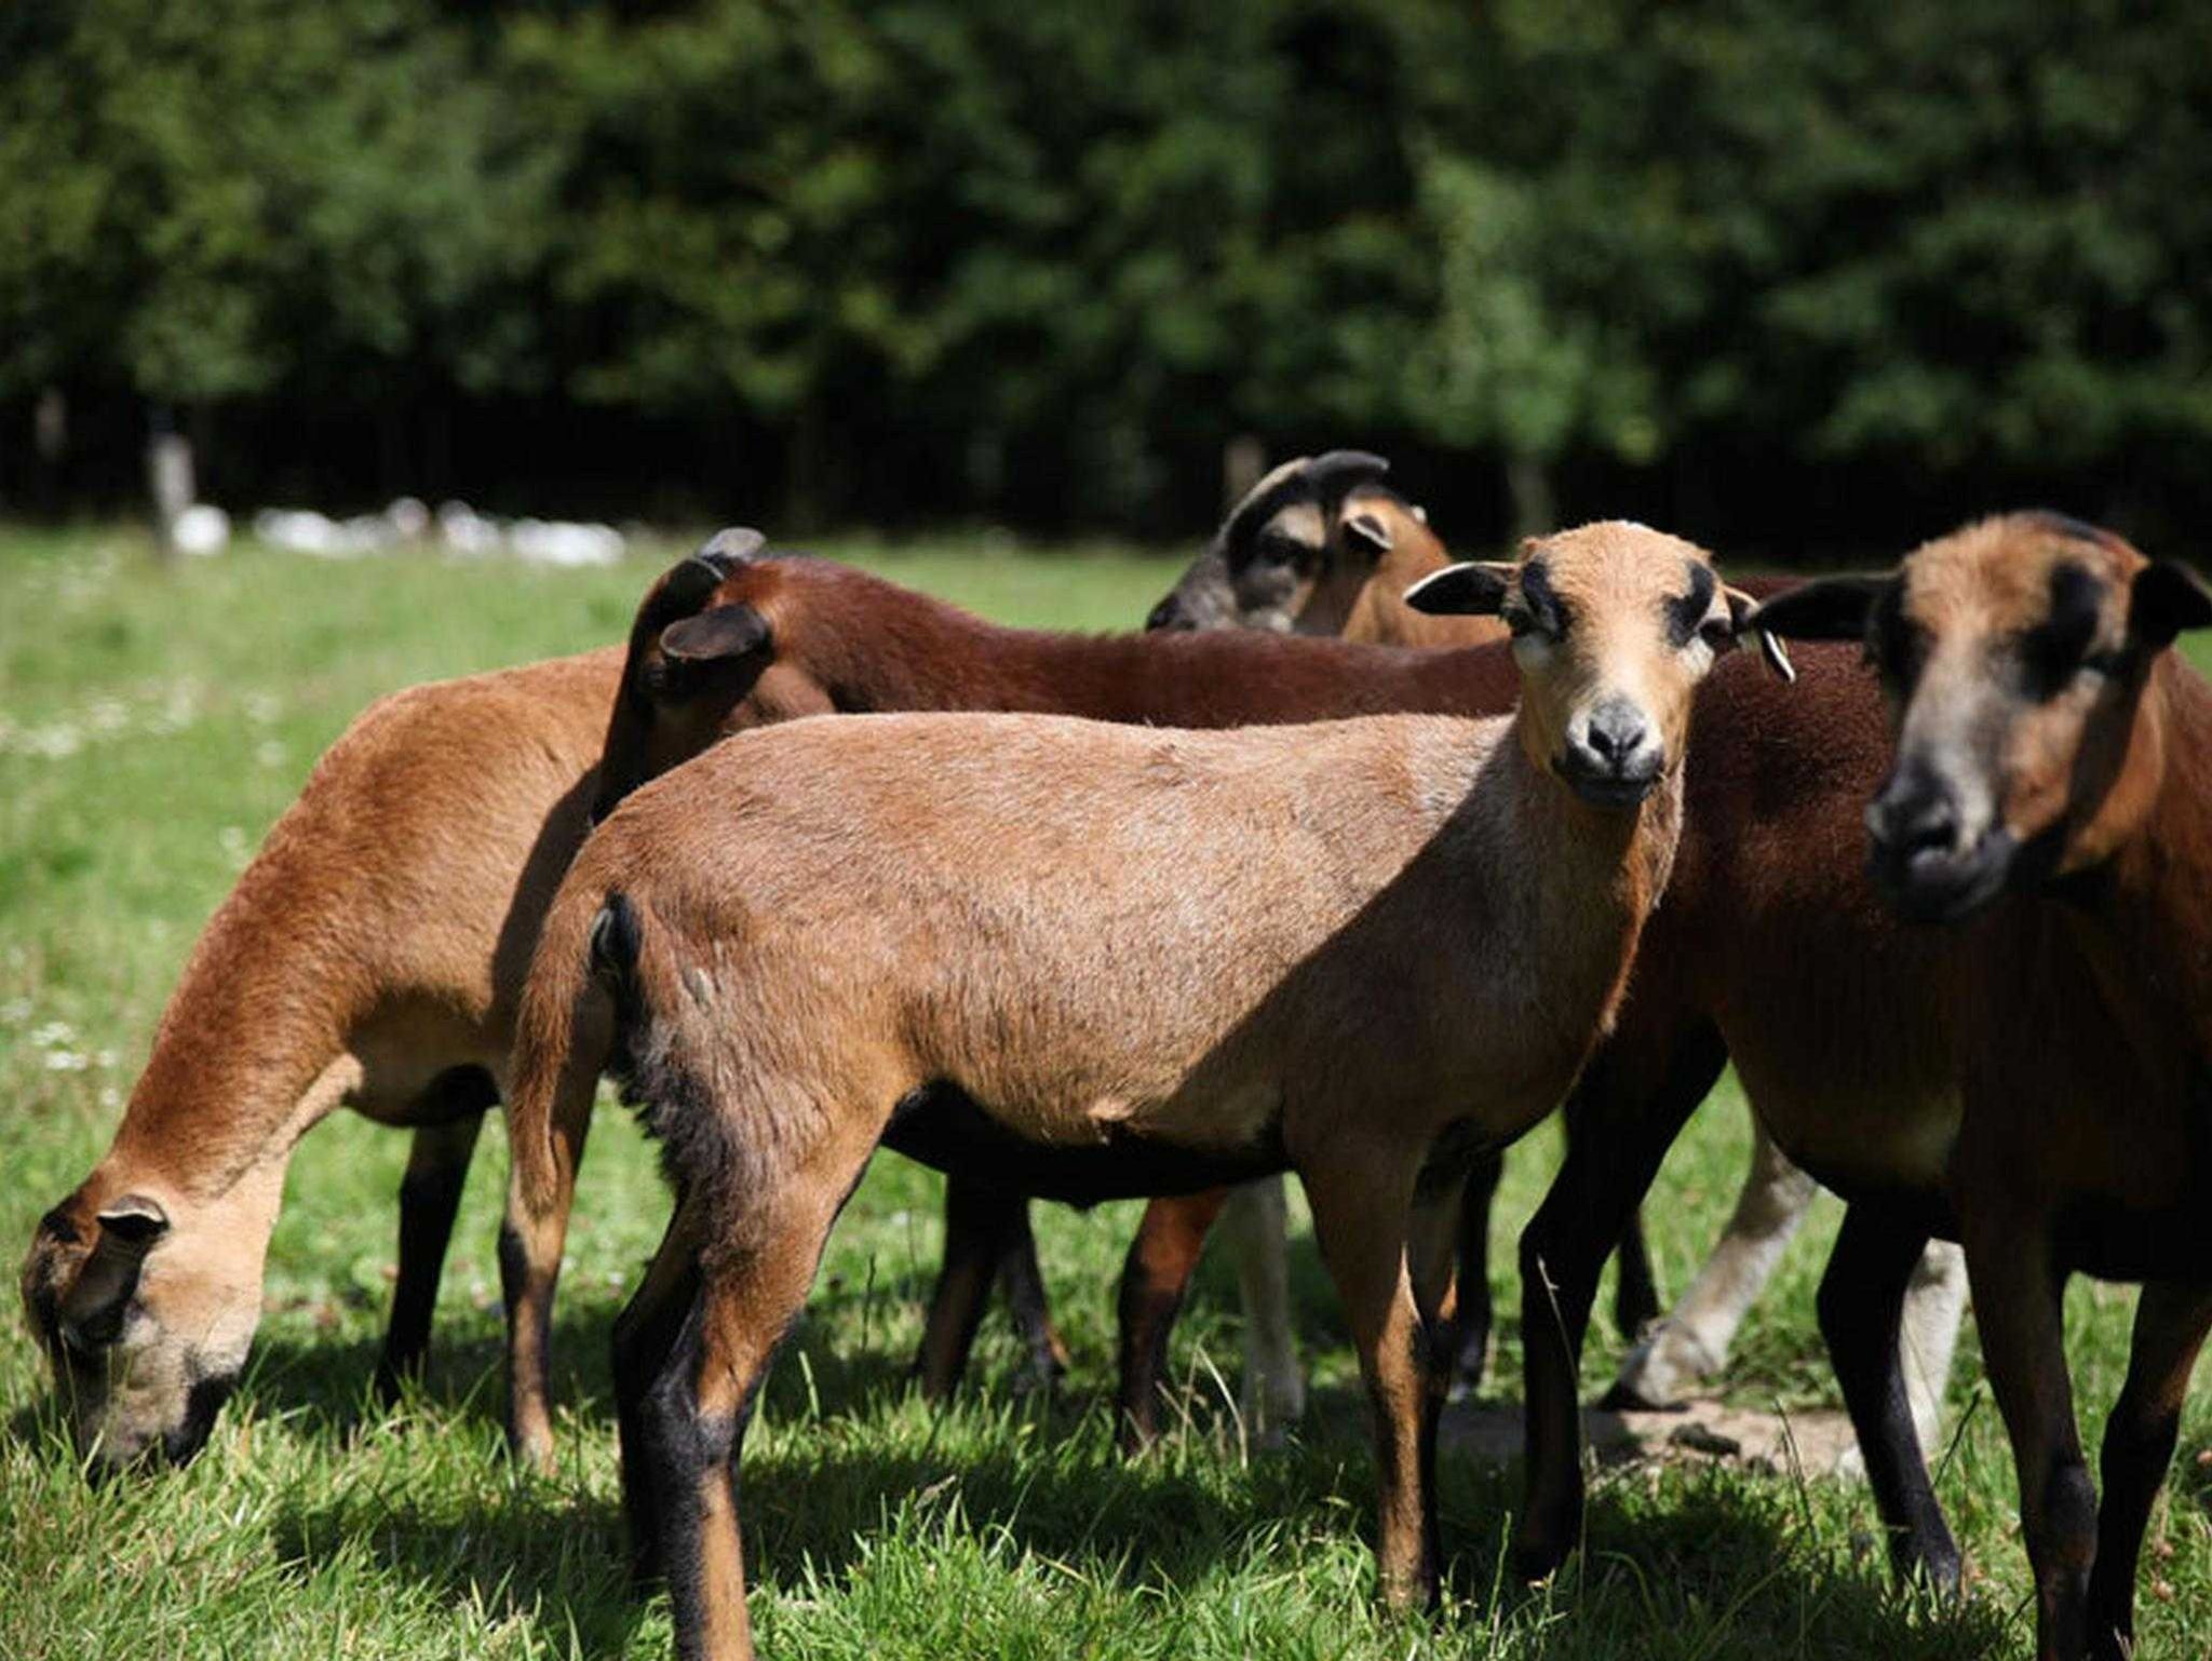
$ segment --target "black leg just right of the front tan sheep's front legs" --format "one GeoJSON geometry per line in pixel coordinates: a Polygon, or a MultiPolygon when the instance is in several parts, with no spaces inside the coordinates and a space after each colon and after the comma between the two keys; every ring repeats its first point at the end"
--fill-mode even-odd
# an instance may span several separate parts
{"type": "Polygon", "coordinates": [[[1513,1566],[1526,1579],[1555,1570],[1582,1537],[1582,1340],[1606,1252],[1725,1062],[1710,1024],[1663,1033],[1624,1024],[1575,1084],[1584,1130],[1520,1243],[1528,1497],[1513,1566]],[[1659,1086],[1648,1090],[1646,1079],[1659,1086]]]}

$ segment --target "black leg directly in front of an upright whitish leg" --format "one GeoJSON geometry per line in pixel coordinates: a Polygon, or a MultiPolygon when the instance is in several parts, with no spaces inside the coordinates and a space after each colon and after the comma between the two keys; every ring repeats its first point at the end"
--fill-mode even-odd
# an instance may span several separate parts
{"type": "Polygon", "coordinates": [[[1924,1228],[1896,1214],[1851,1205],[1820,1276],[1820,1338],[1851,1409],[1874,1504],[1889,1528],[1891,1566],[1900,1579],[1918,1575],[1938,1590],[1958,1592],[1958,1544],[1929,1484],[1898,1356],[1905,1289],[1927,1239],[1924,1228]]]}

